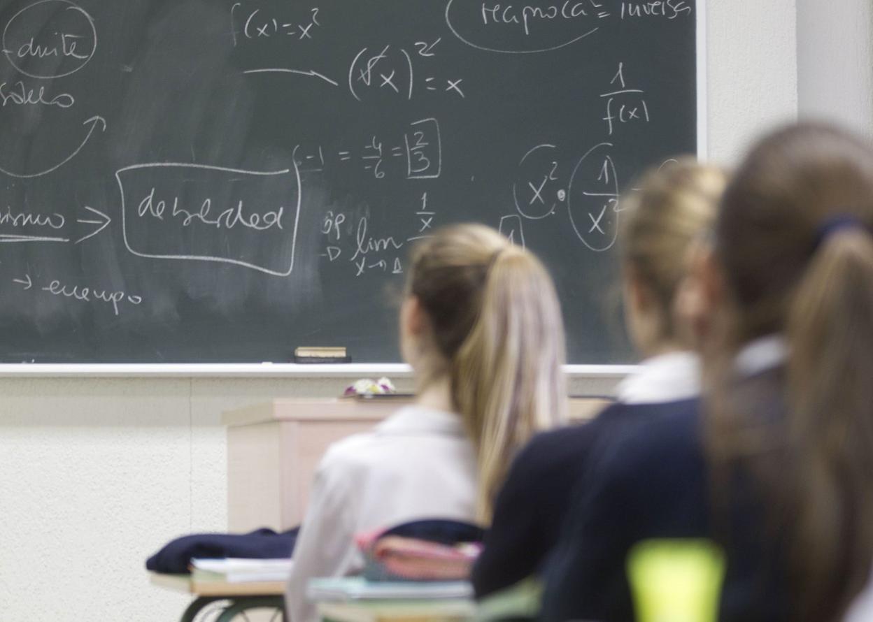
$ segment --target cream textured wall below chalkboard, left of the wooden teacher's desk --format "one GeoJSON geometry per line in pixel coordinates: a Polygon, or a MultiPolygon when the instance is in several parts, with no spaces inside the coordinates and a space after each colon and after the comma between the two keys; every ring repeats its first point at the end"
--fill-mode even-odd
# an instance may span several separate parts
{"type": "Polygon", "coordinates": [[[226,530],[223,410],[330,381],[0,380],[0,619],[172,620],[171,537],[226,530]]]}

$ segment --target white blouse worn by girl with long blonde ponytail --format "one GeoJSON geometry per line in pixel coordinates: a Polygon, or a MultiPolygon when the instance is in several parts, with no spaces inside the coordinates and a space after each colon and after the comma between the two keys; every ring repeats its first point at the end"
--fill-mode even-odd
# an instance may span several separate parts
{"type": "Polygon", "coordinates": [[[457,414],[405,407],[368,434],[327,450],[315,474],[294,549],[285,605],[292,622],[315,622],[311,578],[363,568],[361,531],[421,518],[475,521],[476,455],[457,414]]]}

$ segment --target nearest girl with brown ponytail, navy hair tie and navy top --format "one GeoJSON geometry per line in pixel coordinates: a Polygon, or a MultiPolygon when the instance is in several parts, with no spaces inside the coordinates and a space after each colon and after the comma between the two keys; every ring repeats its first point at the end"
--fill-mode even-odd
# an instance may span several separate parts
{"type": "Polygon", "coordinates": [[[873,149],[767,136],[698,266],[705,399],[630,431],[581,491],[544,619],[633,619],[638,542],[725,550],[720,619],[838,622],[873,562],[873,149]]]}

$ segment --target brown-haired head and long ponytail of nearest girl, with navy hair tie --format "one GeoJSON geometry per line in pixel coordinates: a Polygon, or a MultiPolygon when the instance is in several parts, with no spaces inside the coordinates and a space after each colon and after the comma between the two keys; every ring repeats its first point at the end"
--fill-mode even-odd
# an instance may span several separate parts
{"type": "Polygon", "coordinates": [[[873,149],[830,126],[767,136],[725,191],[705,271],[720,328],[711,457],[767,465],[794,619],[840,619],[873,559],[873,149]],[[771,333],[787,341],[774,387],[787,420],[764,451],[739,442],[761,422],[744,423],[755,408],[730,397],[729,378],[739,346],[771,333]]]}

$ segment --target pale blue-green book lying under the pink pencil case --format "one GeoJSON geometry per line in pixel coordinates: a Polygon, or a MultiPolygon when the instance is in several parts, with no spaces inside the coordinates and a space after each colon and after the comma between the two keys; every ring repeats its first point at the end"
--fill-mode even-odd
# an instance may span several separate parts
{"type": "Polygon", "coordinates": [[[368,581],[363,577],[315,578],[306,596],[320,602],[472,598],[469,581],[368,581]]]}

